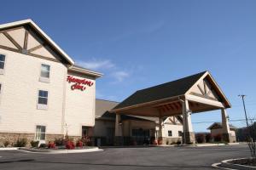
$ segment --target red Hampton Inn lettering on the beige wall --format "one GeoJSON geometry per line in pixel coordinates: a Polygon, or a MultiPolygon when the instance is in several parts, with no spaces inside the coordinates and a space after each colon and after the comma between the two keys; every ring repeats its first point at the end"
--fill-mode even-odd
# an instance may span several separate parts
{"type": "Polygon", "coordinates": [[[81,91],[84,91],[86,89],[86,86],[90,87],[90,86],[93,85],[93,82],[91,82],[89,80],[86,80],[85,78],[80,79],[80,78],[75,78],[75,77],[72,77],[72,76],[67,76],[67,82],[69,82],[69,83],[73,82],[74,83],[71,86],[72,90],[79,89],[81,91]]]}

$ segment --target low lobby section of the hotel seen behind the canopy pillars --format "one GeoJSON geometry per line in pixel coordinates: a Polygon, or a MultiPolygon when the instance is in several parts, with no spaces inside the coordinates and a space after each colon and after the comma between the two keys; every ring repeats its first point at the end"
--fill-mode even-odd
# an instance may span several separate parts
{"type": "MultiPolygon", "coordinates": [[[[110,113],[118,102],[96,99],[96,122],[93,132],[96,145],[114,144],[115,114],[110,113]]],[[[130,144],[154,144],[157,133],[159,118],[146,116],[122,115],[119,125],[122,127],[122,143],[130,144]]],[[[181,141],[183,133],[182,118],[170,116],[163,118],[162,134],[164,144],[181,141]]]]}

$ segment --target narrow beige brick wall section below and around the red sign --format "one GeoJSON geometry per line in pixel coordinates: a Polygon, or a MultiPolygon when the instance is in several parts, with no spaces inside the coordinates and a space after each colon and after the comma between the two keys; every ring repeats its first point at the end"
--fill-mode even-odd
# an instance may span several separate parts
{"type": "Polygon", "coordinates": [[[71,71],[67,75],[79,79],[87,79],[93,82],[92,86],[85,86],[86,89],[71,89],[73,82],[67,82],[65,124],[67,124],[68,135],[81,136],[82,126],[93,127],[95,125],[95,99],[96,81],[93,77],[87,77],[71,71]]]}

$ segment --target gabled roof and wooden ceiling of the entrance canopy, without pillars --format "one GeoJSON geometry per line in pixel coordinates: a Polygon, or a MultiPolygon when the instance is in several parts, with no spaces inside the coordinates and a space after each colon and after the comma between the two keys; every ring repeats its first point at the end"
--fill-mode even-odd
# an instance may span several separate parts
{"type": "Polygon", "coordinates": [[[192,113],[231,107],[229,100],[211,74],[204,71],[173,82],[139,90],[114,107],[112,111],[136,116],[181,115],[181,99],[189,100],[192,113]]]}

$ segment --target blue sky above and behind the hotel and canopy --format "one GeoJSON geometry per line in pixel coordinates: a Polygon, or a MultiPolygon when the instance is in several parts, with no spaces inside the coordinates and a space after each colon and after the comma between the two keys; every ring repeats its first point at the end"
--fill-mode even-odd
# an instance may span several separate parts
{"type": "MultiPolygon", "coordinates": [[[[0,23],[32,19],[77,64],[101,71],[96,97],[122,101],[138,89],[210,71],[244,118],[256,116],[256,1],[3,1],[0,23]]],[[[192,122],[220,121],[220,111],[192,122]]],[[[211,123],[194,123],[206,131],[211,123]]],[[[245,122],[232,122],[237,127],[245,122]]]]}

